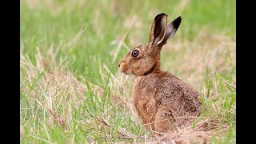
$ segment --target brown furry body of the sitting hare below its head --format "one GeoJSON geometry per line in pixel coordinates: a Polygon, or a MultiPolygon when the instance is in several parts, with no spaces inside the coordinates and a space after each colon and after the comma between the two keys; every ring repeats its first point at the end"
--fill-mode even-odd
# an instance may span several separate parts
{"type": "Polygon", "coordinates": [[[194,121],[193,117],[200,115],[198,92],[167,72],[137,76],[132,95],[134,107],[142,121],[154,122],[146,125],[148,129],[166,132],[178,126],[187,126],[194,121]]]}

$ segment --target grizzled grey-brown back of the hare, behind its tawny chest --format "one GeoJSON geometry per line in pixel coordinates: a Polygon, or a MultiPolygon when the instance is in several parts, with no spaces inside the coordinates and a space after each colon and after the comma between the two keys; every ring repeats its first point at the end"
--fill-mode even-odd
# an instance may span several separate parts
{"type": "Polygon", "coordinates": [[[174,115],[177,114],[177,116],[200,114],[202,103],[198,98],[200,94],[197,90],[168,73],[161,78],[160,82],[162,85],[157,97],[161,99],[161,106],[171,106],[174,115]]]}

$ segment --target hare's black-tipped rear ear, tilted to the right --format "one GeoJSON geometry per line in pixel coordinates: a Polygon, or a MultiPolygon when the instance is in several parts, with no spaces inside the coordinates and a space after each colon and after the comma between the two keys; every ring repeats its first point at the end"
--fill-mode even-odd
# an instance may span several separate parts
{"type": "Polygon", "coordinates": [[[161,45],[166,44],[168,38],[173,38],[174,34],[178,30],[178,26],[181,24],[182,18],[179,16],[178,18],[174,19],[173,22],[170,22],[167,24],[166,28],[166,35],[165,38],[163,38],[161,45]]]}

